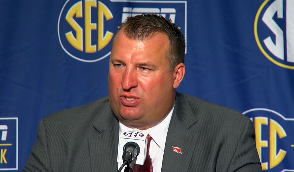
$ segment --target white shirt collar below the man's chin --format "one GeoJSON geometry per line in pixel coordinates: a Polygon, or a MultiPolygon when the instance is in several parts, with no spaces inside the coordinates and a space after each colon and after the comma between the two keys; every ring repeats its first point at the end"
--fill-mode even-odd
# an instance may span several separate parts
{"type": "MultiPolygon", "coordinates": [[[[173,109],[175,107],[175,104],[173,104],[173,107],[169,111],[168,115],[156,126],[148,128],[146,131],[148,134],[153,138],[153,141],[161,148],[162,151],[164,151],[165,143],[166,143],[166,136],[168,132],[168,126],[169,123],[171,122],[171,116],[173,114],[173,109]]],[[[133,130],[134,128],[129,128],[125,126],[124,124],[119,121],[119,133],[122,131],[127,131],[127,130],[133,130]]]]}

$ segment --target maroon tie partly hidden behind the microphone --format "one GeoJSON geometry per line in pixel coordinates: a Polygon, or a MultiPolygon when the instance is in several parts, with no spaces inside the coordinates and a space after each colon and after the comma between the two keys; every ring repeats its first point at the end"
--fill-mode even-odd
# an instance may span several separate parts
{"type": "Polygon", "coordinates": [[[152,140],[152,137],[148,134],[147,136],[147,153],[146,153],[146,159],[143,165],[135,164],[133,166],[133,172],[139,172],[139,171],[148,171],[153,172],[152,162],[149,155],[149,147],[150,147],[150,141],[152,140]]]}

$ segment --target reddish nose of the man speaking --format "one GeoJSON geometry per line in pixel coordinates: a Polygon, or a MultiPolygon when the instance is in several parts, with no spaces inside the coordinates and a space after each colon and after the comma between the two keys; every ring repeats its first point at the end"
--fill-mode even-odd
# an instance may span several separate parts
{"type": "Polygon", "coordinates": [[[138,86],[136,70],[126,69],[121,86],[125,91],[129,91],[131,88],[138,86]]]}

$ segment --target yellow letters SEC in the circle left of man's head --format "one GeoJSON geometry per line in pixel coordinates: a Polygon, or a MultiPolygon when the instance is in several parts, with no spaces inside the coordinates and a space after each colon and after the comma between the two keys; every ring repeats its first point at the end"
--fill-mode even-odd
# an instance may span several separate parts
{"type": "Polygon", "coordinates": [[[72,27],[72,29],[76,32],[74,36],[72,31],[69,31],[65,34],[67,41],[73,46],[75,49],[79,51],[84,51],[86,53],[95,53],[97,51],[102,50],[112,39],[113,33],[110,31],[106,31],[104,35],[104,17],[106,20],[110,20],[113,18],[111,11],[108,9],[106,5],[104,5],[101,1],[88,0],[78,1],[75,3],[66,14],[66,21],[72,27]],[[83,10],[84,9],[84,10],[83,10]],[[98,30],[97,23],[92,22],[92,14],[91,10],[98,10],[98,30]],[[84,12],[84,15],[83,15],[84,12]],[[74,19],[83,18],[84,17],[84,27],[80,26],[78,22],[74,19]],[[92,44],[92,32],[96,30],[98,33],[97,44],[92,44]],[[85,34],[85,40],[83,40],[83,34],[85,34]],[[83,44],[85,42],[85,45],[83,44]],[[83,49],[85,46],[85,50],[83,49]]]}

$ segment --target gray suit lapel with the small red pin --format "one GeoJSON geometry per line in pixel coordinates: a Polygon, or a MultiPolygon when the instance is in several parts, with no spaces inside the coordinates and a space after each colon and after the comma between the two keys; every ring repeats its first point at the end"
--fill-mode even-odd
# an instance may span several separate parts
{"type": "Polygon", "coordinates": [[[173,116],[168,128],[161,171],[188,171],[199,133],[197,119],[188,101],[177,93],[173,116]],[[173,146],[182,153],[173,151],[173,146]]]}

